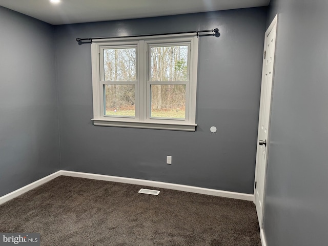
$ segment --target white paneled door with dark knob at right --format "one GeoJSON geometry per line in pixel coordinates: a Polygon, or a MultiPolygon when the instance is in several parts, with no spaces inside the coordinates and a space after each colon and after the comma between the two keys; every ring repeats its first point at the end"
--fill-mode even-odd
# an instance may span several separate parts
{"type": "Polygon", "coordinates": [[[265,32],[262,85],[260,99],[260,114],[258,125],[258,145],[256,153],[256,174],[255,174],[255,206],[257,217],[262,228],[263,220],[263,200],[265,191],[265,174],[267,172],[267,157],[269,143],[269,125],[271,111],[272,80],[275,58],[277,16],[274,18],[268,30],[265,32]]]}

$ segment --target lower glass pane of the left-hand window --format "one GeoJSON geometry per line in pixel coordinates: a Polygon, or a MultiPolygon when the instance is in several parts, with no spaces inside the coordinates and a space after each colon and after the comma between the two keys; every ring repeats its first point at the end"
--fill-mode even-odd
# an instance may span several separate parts
{"type": "Polygon", "coordinates": [[[135,116],[134,85],[104,85],[105,115],[135,116]]]}

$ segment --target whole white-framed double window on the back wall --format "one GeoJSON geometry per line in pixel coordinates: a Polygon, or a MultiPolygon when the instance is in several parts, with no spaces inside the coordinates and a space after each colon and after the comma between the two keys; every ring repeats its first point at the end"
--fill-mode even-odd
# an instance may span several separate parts
{"type": "Polygon", "coordinates": [[[198,37],[93,39],[95,126],[195,131],[198,37]]]}

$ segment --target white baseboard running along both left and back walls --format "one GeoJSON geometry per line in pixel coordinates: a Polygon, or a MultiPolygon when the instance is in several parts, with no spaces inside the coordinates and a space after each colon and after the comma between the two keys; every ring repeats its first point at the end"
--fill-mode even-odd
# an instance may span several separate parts
{"type": "Polygon", "coordinates": [[[46,183],[60,175],[78,177],[78,178],[105,180],[105,181],[112,181],[112,182],[119,182],[119,183],[131,183],[132,185],[150,186],[150,187],[171,189],[171,190],[177,190],[177,191],[186,191],[186,192],[193,192],[193,193],[198,193],[198,194],[228,197],[228,198],[247,200],[247,201],[254,200],[253,194],[244,194],[244,193],[237,193],[237,192],[230,192],[230,191],[220,191],[220,190],[214,190],[214,189],[178,185],[176,183],[166,183],[166,182],[151,181],[151,180],[145,180],[145,179],[124,178],[124,177],[108,176],[108,175],[101,175],[101,174],[80,173],[80,172],[60,170],[58,172],[55,172],[53,174],[50,174],[50,175],[42,178],[42,179],[36,180],[27,186],[24,186],[18,190],[15,190],[7,195],[0,197],[0,204],[5,203],[6,201],[9,201],[19,195],[22,195],[23,193],[30,191],[40,185],[43,185],[44,183],[46,183]]]}

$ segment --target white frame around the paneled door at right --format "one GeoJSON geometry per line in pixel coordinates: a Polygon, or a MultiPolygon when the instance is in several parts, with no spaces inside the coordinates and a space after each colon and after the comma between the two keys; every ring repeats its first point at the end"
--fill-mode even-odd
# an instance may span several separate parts
{"type": "MultiPolygon", "coordinates": [[[[265,59],[264,59],[264,52],[265,52],[265,48],[267,46],[267,36],[270,34],[270,32],[275,28],[276,29],[276,35],[275,35],[275,39],[277,40],[277,25],[278,25],[278,14],[276,14],[276,16],[274,17],[274,19],[272,20],[270,26],[268,27],[267,31],[265,31],[264,34],[264,48],[263,48],[263,61],[262,61],[262,76],[261,76],[261,96],[262,96],[262,83],[264,80],[264,66],[265,66],[265,59]]],[[[275,42],[276,43],[276,42],[275,42]]],[[[276,54],[276,47],[277,44],[275,44],[275,52],[274,54],[276,54]]],[[[265,186],[266,186],[266,181],[267,181],[267,168],[268,168],[268,157],[269,157],[269,139],[270,139],[270,122],[271,122],[271,108],[272,108],[272,93],[273,93],[273,85],[274,85],[274,72],[275,72],[275,58],[274,58],[274,63],[273,63],[273,72],[272,72],[272,87],[271,87],[271,92],[270,92],[270,112],[269,112],[269,127],[268,127],[268,139],[267,139],[267,146],[265,147],[265,151],[266,151],[266,155],[267,155],[267,159],[266,159],[266,163],[265,163],[265,173],[264,173],[264,182],[263,182],[263,200],[262,200],[262,214],[261,214],[261,221],[259,221],[259,226],[260,226],[260,230],[262,230],[262,226],[263,226],[263,214],[264,214],[264,200],[265,200],[265,186]]],[[[261,98],[260,98],[260,102],[261,102],[261,98]]],[[[260,105],[260,109],[259,109],[259,122],[258,122],[258,132],[257,132],[257,142],[256,142],[256,165],[255,165],[255,178],[254,178],[254,203],[256,200],[256,182],[258,180],[257,174],[258,174],[258,169],[259,169],[259,164],[258,164],[258,152],[259,152],[259,148],[258,148],[258,143],[259,143],[259,136],[260,136],[260,116],[262,114],[262,107],[260,105]]],[[[258,187],[257,187],[258,188],[258,187]]]]}

